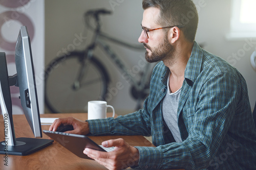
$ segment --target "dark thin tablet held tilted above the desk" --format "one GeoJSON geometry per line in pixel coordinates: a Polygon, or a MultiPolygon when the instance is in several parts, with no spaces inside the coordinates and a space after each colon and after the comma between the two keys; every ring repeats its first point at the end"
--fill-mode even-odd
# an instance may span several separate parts
{"type": "Polygon", "coordinates": [[[71,133],[63,133],[63,132],[54,132],[43,130],[47,136],[57,141],[63,147],[68,149],[73,154],[77,155],[80,158],[84,159],[92,159],[89,158],[86,154],[83,154],[83,150],[86,148],[102,151],[102,152],[110,152],[114,150],[114,147],[104,148],[102,145],[98,145],[92,139],[84,135],[77,135],[71,133]],[[103,149],[104,148],[104,149],[103,149]]]}

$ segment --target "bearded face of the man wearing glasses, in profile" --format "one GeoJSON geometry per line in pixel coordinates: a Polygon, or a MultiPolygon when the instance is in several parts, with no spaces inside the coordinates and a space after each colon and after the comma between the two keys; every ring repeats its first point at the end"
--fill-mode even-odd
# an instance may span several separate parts
{"type": "MultiPolygon", "coordinates": [[[[146,29],[161,28],[162,26],[157,24],[159,15],[160,10],[158,8],[146,9],[143,13],[142,26],[146,29]]],[[[145,58],[151,63],[162,61],[174,52],[174,47],[168,41],[168,32],[164,30],[148,32],[148,39],[142,31],[138,41],[144,44],[146,48],[145,58]]]]}

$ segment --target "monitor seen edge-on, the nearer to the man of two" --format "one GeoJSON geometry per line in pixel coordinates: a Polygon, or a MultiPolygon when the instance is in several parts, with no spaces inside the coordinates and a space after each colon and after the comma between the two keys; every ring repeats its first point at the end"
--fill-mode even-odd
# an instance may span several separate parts
{"type": "Polygon", "coordinates": [[[15,47],[20,102],[35,137],[42,137],[35,73],[27,28],[21,27],[15,47]]]}

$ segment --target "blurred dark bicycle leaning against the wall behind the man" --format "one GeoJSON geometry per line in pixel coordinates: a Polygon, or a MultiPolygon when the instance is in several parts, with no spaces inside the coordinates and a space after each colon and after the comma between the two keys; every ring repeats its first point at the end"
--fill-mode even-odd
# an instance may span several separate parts
{"type": "Polygon", "coordinates": [[[133,45],[106,35],[101,31],[100,15],[111,14],[104,9],[90,10],[84,14],[87,27],[93,30],[91,43],[84,51],[73,51],[69,55],[57,57],[51,61],[45,71],[45,104],[53,113],[85,112],[87,103],[91,100],[106,100],[106,93],[110,83],[110,76],[105,66],[94,55],[96,47],[105,52],[119,71],[131,80],[131,94],[137,100],[136,109],[141,108],[142,101],[149,93],[149,81],[152,68],[149,63],[140,72],[139,81],[131,75],[120,58],[111,50],[106,41],[133,48],[145,50],[144,46],[133,45]],[[94,19],[96,26],[91,26],[90,19],[94,19]],[[150,70],[151,69],[151,70],[150,70]],[[59,75],[66,74],[67,79],[59,79],[59,75]],[[56,94],[50,92],[54,88],[56,94]],[[89,94],[93,92],[93,94],[89,94]]]}

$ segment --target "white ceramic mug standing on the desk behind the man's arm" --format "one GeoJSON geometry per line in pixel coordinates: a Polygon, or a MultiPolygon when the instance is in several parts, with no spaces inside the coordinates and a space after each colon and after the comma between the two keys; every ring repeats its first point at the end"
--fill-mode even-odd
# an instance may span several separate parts
{"type": "Polygon", "coordinates": [[[111,105],[106,105],[105,101],[89,101],[88,102],[88,120],[106,118],[106,108],[112,108],[113,115],[115,116],[115,109],[111,105]]]}

